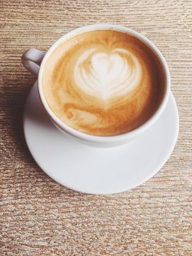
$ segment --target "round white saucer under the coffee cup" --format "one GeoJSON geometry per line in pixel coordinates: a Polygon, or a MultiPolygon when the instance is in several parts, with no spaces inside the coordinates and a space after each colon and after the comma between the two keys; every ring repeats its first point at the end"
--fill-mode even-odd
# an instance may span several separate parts
{"type": "Polygon", "coordinates": [[[55,128],[34,83],[23,126],[28,149],[48,176],[80,192],[111,194],[137,187],[158,172],[173,151],[179,118],[171,95],[161,118],[138,139],[117,148],[92,148],[66,138],[55,128]]]}

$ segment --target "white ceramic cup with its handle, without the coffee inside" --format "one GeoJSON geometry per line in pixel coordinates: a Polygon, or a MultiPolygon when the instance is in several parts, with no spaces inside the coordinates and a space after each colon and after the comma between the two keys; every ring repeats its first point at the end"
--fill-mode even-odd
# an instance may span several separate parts
{"type": "Polygon", "coordinates": [[[23,54],[21,61],[23,63],[23,66],[26,67],[26,69],[28,69],[28,71],[37,75],[39,97],[41,99],[43,107],[45,108],[46,113],[50,117],[51,121],[53,121],[53,124],[55,124],[55,127],[57,127],[65,135],[70,135],[70,137],[75,138],[75,139],[81,141],[82,143],[88,144],[89,146],[97,146],[97,147],[120,146],[120,145],[130,142],[134,138],[137,138],[139,135],[141,135],[143,132],[145,132],[149,127],[151,127],[155,123],[155,121],[158,120],[158,118],[163,113],[164,108],[166,107],[166,104],[169,99],[169,93],[170,93],[169,67],[167,66],[166,61],[165,61],[164,57],[162,56],[161,52],[158,50],[158,48],[155,47],[155,45],[153,45],[152,42],[150,42],[149,39],[142,36],[142,34],[139,34],[132,29],[127,29],[123,26],[117,26],[117,25],[111,25],[111,24],[96,24],[96,25],[90,25],[90,26],[83,26],[79,29],[74,29],[73,31],[65,34],[63,37],[58,39],[50,47],[50,49],[47,50],[47,53],[42,53],[42,51],[37,50],[35,48],[29,48],[23,54]],[[153,50],[153,53],[155,53],[155,56],[157,56],[158,60],[160,61],[161,65],[164,69],[165,93],[164,93],[164,97],[161,101],[161,104],[159,105],[158,109],[155,111],[153,116],[151,116],[144,124],[142,124],[137,129],[134,129],[130,132],[126,132],[121,135],[115,135],[115,136],[88,135],[88,134],[78,131],[77,129],[73,129],[72,127],[69,127],[67,124],[64,124],[64,122],[62,122],[55,115],[55,113],[53,113],[53,111],[50,109],[49,105],[47,104],[45,95],[42,90],[42,74],[43,74],[43,69],[45,67],[47,58],[49,58],[50,53],[53,52],[53,50],[58,46],[58,44],[66,41],[67,39],[69,39],[71,37],[74,37],[74,35],[81,34],[85,31],[106,30],[106,29],[121,31],[126,34],[131,34],[134,37],[138,38],[140,41],[144,42],[148,48],[153,50]]]}

